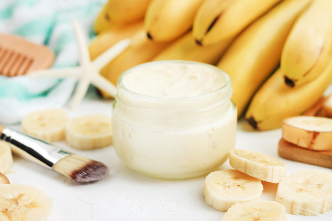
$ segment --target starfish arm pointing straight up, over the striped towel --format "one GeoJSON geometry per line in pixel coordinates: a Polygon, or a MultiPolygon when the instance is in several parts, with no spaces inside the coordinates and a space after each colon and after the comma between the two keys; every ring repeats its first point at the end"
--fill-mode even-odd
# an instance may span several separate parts
{"type": "Polygon", "coordinates": [[[80,65],[87,66],[91,63],[91,60],[82,27],[78,24],[76,20],[73,21],[73,26],[77,40],[77,47],[80,53],[80,65]]]}

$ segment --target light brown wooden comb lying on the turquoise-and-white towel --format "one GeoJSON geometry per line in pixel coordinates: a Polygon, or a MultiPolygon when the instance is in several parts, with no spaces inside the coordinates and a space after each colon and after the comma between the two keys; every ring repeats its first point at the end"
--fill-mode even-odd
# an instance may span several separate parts
{"type": "Polygon", "coordinates": [[[29,71],[46,69],[54,62],[54,53],[44,45],[24,38],[0,34],[0,74],[14,77],[29,71]]]}

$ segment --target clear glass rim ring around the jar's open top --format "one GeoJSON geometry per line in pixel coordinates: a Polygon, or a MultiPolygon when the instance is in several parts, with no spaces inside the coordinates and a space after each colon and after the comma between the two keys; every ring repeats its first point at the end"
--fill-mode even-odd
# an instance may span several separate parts
{"type": "Polygon", "coordinates": [[[165,101],[165,102],[167,102],[167,101],[189,101],[189,100],[196,100],[196,99],[202,99],[202,98],[210,97],[210,96],[213,96],[213,95],[218,94],[220,92],[223,92],[224,90],[227,90],[227,88],[230,85],[231,85],[230,77],[224,71],[219,69],[218,67],[216,67],[214,65],[202,63],[202,62],[184,61],[184,60],[164,60],[164,61],[146,62],[146,63],[140,64],[140,65],[136,65],[136,66],[124,71],[123,73],[121,73],[121,75],[119,76],[119,78],[117,80],[117,87],[121,88],[122,90],[125,90],[129,94],[135,95],[135,96],[137,96],[139,98],[143,98],[143,99],[149,99],[149,100],[155,100],[155,101],[165,101]],[[217,71],[219,74],[222,75],[222,77],[225,79],[225,83],[223,85],[221,85],[218,89],[216,89],[215,91],[213,91],[211,93],[207,93],[205,95],[193,96],[193,97],[184,97],[184,98],[159,98],[159,97],[152,97],[152,96],[142,95],[142,94],[139,94],[139,93],[136,93],[136,92],[133,92],[133,91],[129,90],[122,83],[122,79],[124,78],[124,76],[127,75],[129,72],[131,72],[132,70],[134,70],[136,68],[149,66],[149,65],[153,65],[153,64],[163,64],[163,63],[182,63],[182,64],[195,64],[195,65],[209,66],[210,68],[214,69],[215,71],[217,71]]]}

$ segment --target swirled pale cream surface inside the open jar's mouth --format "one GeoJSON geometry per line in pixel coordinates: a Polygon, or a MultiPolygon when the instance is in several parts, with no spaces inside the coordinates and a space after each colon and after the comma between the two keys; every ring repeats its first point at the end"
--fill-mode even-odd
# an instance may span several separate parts
{"type": "Polygon", "coordinates": [[[142,66],[123,79],[124,87],[137,94],[157,98],[187,98],[220,89],[225,79],[209,66],[163,63],[142,66]]]}

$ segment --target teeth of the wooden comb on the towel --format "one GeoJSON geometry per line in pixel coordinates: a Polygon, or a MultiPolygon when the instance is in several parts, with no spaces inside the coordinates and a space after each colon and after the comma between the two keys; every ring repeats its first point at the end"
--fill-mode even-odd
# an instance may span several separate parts
{"type": "Polygon", "coordinates": [[[24,75],[34,60],[27,55],[10,51],[0,46],[0,74],[4,76],[24,75]]]}

